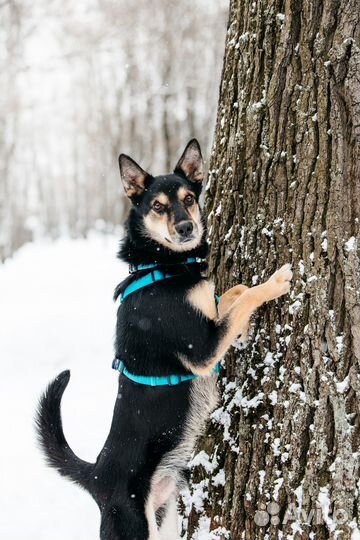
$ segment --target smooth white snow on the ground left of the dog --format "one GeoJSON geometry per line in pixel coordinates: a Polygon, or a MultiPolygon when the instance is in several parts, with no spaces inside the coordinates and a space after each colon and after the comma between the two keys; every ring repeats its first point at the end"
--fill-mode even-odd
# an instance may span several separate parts
{"type": "Polygon", "coordinates": [[[117,390],[111,369],[116,307],[127,274],[117,239],[90,235],[29,244],[0,265],[0,537],[98,540],[90,496],[44,465],[33,417],[46,384],[64,369],[64,431],[83,459],[107,436],[117,390]]]}

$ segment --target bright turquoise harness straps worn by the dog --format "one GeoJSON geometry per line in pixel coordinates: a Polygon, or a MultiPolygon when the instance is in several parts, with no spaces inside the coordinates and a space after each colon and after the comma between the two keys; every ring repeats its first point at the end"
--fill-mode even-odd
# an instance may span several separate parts
{"type": "MultiPolygon", "coordinates": [[[[199,259],[196,258],[188,258],[184,262],[184,264],[193,264],[201,262],[199,259]]],[[[149,285],[153,285],[153,283],[156,283],[157,281],[163,281],[164,279],[168,279],[171,277],[175,277],[178,274],[167,274],[165,272],[162,272],[161,270],[157,270],[156,264],[140,264],[136,267],[130,266],[130,273],[136,272],[139,270],[151,270],[148,274],[145,274],[144,276],[140,277],[136,281],[133,281],[126,287],[126,289],[122,292],[120,297],[120,303],[122,304],[130,294],[133,294],[134,292],[143,289],[144,287],[147,287],[149,285]]],[[[216,302],[218,302],[218,297],[216,298],[216,302]]],[[[130,371],[125,367],[125,364],[120,358],[115,358],[112,363],[112,368],[115,369],[120,373],[120,375],[125,375],[128,379],[131,381],[137,383],[137,384],[143,384],[146,386],[175,386],[177,384],[180,384],[185,381],[191,381],[192,379],[197,379],[199,375],[165,375],[162,377],[151,377],[147,375],[135,375],[134,373],[130,373],[130,371]]],[[[218,374],[220,371],[220,362],[214,367],[213,373],[218,374]]]]}

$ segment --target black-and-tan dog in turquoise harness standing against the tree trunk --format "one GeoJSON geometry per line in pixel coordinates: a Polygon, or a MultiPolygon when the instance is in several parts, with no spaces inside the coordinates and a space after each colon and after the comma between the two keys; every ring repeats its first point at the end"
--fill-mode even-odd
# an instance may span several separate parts
{"type": "Polygon", "coordinates": [[[254,311],[289,292],[292,272],[285,265],[265,283],[237,285],[217,301],[203,275],[204,164],[197,140],[173,174],[154,177],[124,154],[119,165],[132,203],[119,257],[131,273],[115,291],[122,299],[115,367],[122,373],[110,433],[96,463],[70,449],[60,413],[69,371],[41,397],[37,429],[50,466],[98,504],[101,540],[175,540],[178,492],[218,402],[216,366],[236,338],[245,340],[254,311]]]}

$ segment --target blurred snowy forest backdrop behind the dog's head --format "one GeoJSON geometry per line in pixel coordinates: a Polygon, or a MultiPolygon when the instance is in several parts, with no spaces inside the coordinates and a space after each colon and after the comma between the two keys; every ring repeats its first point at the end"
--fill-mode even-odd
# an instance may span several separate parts
{"type": "Polygon", "coordinates": [[[209,147],[227,7],[0,0],[0,261],[114,231],[120,151],[159,174],[194,134],[209,147]]]}

